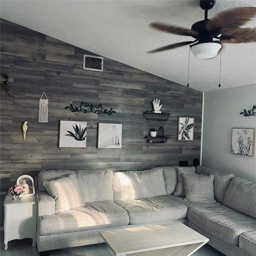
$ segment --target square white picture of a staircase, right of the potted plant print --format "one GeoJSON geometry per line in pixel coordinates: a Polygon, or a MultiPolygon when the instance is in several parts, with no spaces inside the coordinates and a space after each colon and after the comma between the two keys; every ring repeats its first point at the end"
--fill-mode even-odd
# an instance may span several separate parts
{"type": "Polygon", "coordinates": [[[98,148],[122,148],[122,124],[98,123],[98,148]]]}

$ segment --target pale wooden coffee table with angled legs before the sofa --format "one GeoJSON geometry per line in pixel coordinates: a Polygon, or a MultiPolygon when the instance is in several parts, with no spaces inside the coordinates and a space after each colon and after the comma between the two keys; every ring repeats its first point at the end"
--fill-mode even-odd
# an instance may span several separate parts
{"type": "Polygon", "coordinates": [[[108,230],[100,235],[116,256],[189,256],[209,241],[180,222],[108,230]]]}

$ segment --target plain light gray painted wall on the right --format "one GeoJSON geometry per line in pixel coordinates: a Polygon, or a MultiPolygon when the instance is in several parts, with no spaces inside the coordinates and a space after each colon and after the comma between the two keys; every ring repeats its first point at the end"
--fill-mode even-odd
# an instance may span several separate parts
{"type": "Polygon", "coordinates": [[[256,104],[256,84],[205,92],[202,165],[256,182],[254,157],[231,154],[232,128],[256,128],[256,116],[240,115],[256,104]]]}

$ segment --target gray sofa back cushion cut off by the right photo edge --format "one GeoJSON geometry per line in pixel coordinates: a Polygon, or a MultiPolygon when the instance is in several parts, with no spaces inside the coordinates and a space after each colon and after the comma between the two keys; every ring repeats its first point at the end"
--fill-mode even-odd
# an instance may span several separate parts
{"type": "Polygon", "coordinates": [[[230,182],[223,204],[256,218],[256,183],[235,177],[230,182]]]}

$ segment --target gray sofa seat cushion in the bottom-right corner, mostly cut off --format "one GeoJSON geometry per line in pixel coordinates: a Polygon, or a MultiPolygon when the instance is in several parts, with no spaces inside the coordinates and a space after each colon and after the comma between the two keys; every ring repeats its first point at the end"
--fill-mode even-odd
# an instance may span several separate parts
{"type": "Polygon", "coordinates": [[[241,234],[239,236],[239,247],[248,254],[256,256],[256,231],[241,234]]]}

